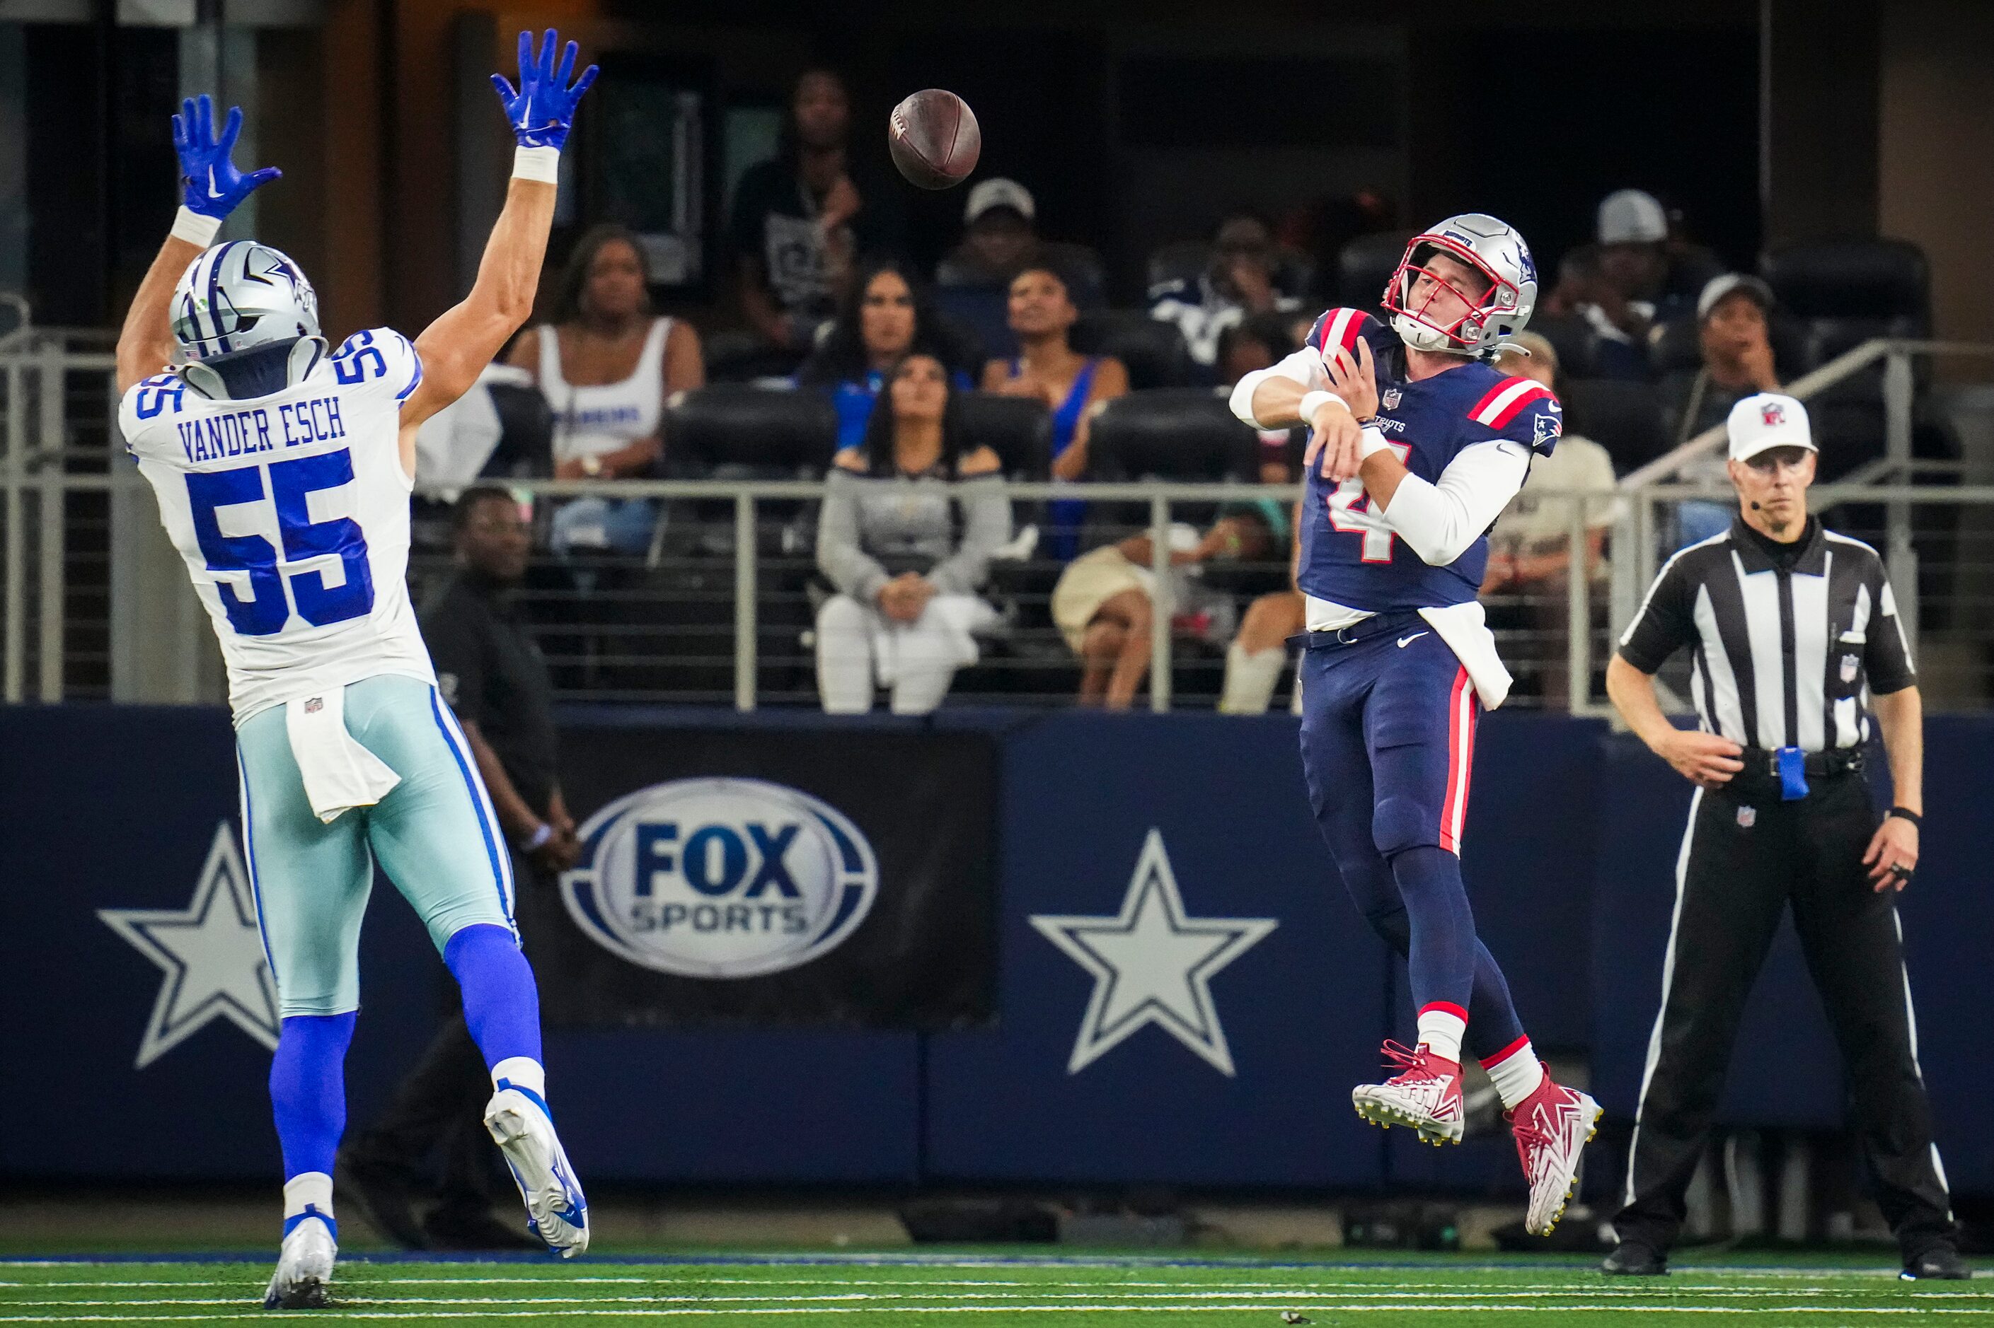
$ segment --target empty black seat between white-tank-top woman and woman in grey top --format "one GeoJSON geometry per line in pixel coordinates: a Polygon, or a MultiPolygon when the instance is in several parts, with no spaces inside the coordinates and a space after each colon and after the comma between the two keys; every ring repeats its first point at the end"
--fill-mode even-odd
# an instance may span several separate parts
{"type": "Polygon", "coordinates": [[[837,413],[822,393],[716,383],[676,393],[664,409],[664,455],[678,473],[746,467],[818,477],[837,447],[837,413]]]}

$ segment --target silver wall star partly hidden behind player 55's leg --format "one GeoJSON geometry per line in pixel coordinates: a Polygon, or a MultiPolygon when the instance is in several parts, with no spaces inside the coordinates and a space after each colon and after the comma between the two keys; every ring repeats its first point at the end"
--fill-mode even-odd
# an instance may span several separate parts
{"type": "Polygon", "coordinates": [[[249,873],[227,822],[215,826],[215,841],[187,907],[98,909],[98,917],[166,975],[138,1045],[138,1069],[213,1019],[227,1019],[275,1051],[277,987],[263,955],[249,873]]]}

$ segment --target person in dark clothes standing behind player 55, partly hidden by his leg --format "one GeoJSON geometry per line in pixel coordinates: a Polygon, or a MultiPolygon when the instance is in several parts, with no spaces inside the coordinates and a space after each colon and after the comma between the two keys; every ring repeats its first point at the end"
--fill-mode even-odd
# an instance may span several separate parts
{"type": "MultiPolygon", "coordinates": [[[[546,660],[510,604],[526,572],[526,524],[512,495],[495,485],[467,489],[455,524],[459,568],[423,612],[423,640],[512,845],[514,879],[548,883],[574,865],[580,845],[560,798],[546,660]]],[[[381,1119],[339,1151],[339,1192],[375,1230],[411,1248],[538,1248],[491,1212],[510,1186],[481,1121],[489,1095],[485,1057],[453,1009],[381,1119]],[[417,1218],[435,1149],[443,1151],[441,1184],[417,1218]]]]}

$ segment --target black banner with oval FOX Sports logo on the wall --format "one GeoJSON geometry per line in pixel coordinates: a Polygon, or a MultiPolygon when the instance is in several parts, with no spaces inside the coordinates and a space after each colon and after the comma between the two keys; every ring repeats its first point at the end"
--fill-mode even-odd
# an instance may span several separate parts
{"type": "Polygon", "coordinates": [[[548,1023],[991,1021],[991,736],[572,726],[562,748],[582,857],[518,899],[548,1023]]]}

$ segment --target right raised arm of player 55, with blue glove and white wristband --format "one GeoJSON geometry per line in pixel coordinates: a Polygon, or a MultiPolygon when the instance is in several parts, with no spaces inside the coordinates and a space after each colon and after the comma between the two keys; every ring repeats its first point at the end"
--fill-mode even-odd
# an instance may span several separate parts
{"type": "Polygon", "coordinates": [[[512,185],[506,189],[504,211],[498,213],[485,243],[471,293],[415,339],[415,351],[423,357],[423,383],[401,407],[403,465],[411,473],[415,427],[463,397],[504,347],[506,337],[532,313],[532,297],[540,287],[540,261],[546,257],[546,231],[554,223],[560,148],[568,142],[576,104],[588,92],[588,84],[596,82],[596,66],[588,66],[570,84],[578,48],[568,42],[556,68],[556,46],[558,38],[548,28],[534,58],[532,34],[520,32],[518,90],[502,74],[493,74],[498,104],[504,106],[512,136],[518,140],[512,185]]]}

